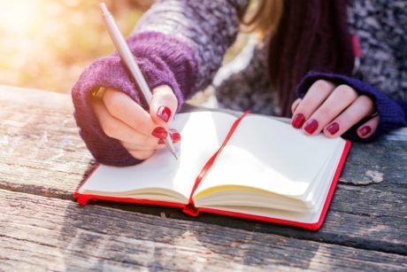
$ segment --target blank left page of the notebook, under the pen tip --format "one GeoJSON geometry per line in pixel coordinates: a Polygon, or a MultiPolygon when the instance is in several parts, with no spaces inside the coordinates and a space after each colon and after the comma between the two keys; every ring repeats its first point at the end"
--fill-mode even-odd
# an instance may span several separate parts
{"type": "Polygon", "coordinates": [[[196,175],[206,161],[219,149],[235,117],[227,113],[180,113],[171,123],[180,131],[181,141],[175,144],[178,160],[166,148],[133,167],[100,166],[80,192],[130,192],[162,188],[189,197],[196,175]]]}

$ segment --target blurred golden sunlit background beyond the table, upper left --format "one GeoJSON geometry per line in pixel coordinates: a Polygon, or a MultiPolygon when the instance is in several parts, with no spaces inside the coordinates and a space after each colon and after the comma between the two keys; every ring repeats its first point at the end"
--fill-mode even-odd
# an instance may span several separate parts
{"type": "MultiPolygon", "coordinates": [[[[0,84],[68,92],[113,51],[96,0],[0,0],[0,84]]],[[[150,0],[106,1],[129,35],[150,0]]]]}

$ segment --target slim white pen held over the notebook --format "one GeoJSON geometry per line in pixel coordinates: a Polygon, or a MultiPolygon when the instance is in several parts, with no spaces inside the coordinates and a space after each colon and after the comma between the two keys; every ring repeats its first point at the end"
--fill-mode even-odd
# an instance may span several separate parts
{"type": "MultiPolygon", "coordinates": [[[[142,71],[140,70],[140,67],[137,65],[137,63],[134,60],[134,55],[128,48],[126,40],[123,37],[123,35],[121,35],[119,27],[116,25],[116,22],[114,21],[113,17],[111,16],[111,12],[109,12],[109,10],[107,9],[106,4],[101,3],[100,8],[104,15],[103,16],[104,25],[106,26],[107,30],[109,31],[109,35],[111,36],[111,41],[114,43],[116,50],[119,52],[119,56],[120,56],[121,60],[123,60],[123,62],[127,66],[128,71],[133,76],[134,82],[138,85],[138,87],[142,91],[142,97],[144,97],[144,100],[146,101],[147,105],[150,105],[151,99],[152,99],[152,93],[149,88],[149,85],[147,85],[147,82],[145,81],[144,76],[142,75],[142,71]]],[[[168,150],[173,154],[175,159],[178,159],[177,155],[175,153],[175,149],[173,147],[173,140],[171,139],[171,136],[169,133],[165,138],[165,145],[168,148],[168,150]]]]}

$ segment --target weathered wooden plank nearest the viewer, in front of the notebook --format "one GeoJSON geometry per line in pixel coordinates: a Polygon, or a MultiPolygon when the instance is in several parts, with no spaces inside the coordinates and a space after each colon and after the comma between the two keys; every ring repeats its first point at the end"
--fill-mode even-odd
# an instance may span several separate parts
{"type": "Polygon", "coordinates": [[[403,270],[407,257],[0,190],[0,269],[403,270]]]}

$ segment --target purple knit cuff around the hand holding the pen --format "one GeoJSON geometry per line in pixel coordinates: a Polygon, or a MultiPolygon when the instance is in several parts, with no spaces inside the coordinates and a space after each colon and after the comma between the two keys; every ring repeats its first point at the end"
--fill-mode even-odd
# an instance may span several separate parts
{"type": "MultiPolygon", "coordinates": [[[[171,87],[178,99],[179,111],[184,102],[181,88],[188,95],[188,91],[195,84],[194,76],[190,75],[195,64],[191,57],[188,59],[188,55],[184,55],[188,49],[182,48],[182,44],[171,38],[166,39],[167,41],[164,35],[143,33],[133,35],[127,43],[150,89],[160,85],[171,87]],[[162,44],[165,44],[167,50],[162,44]]],[[[91,93],[102,86],[121,90],[135,102],[141,103],[138,91],[119,56],[115,53],[110,57],[97,59],[85,69],[72,90],[74,118],[80,128],[80,135],[98,162],[113,166],[137,164],[141,160],[134,159],[118,140],[104,134],[93,112],[91,93]]]]}

